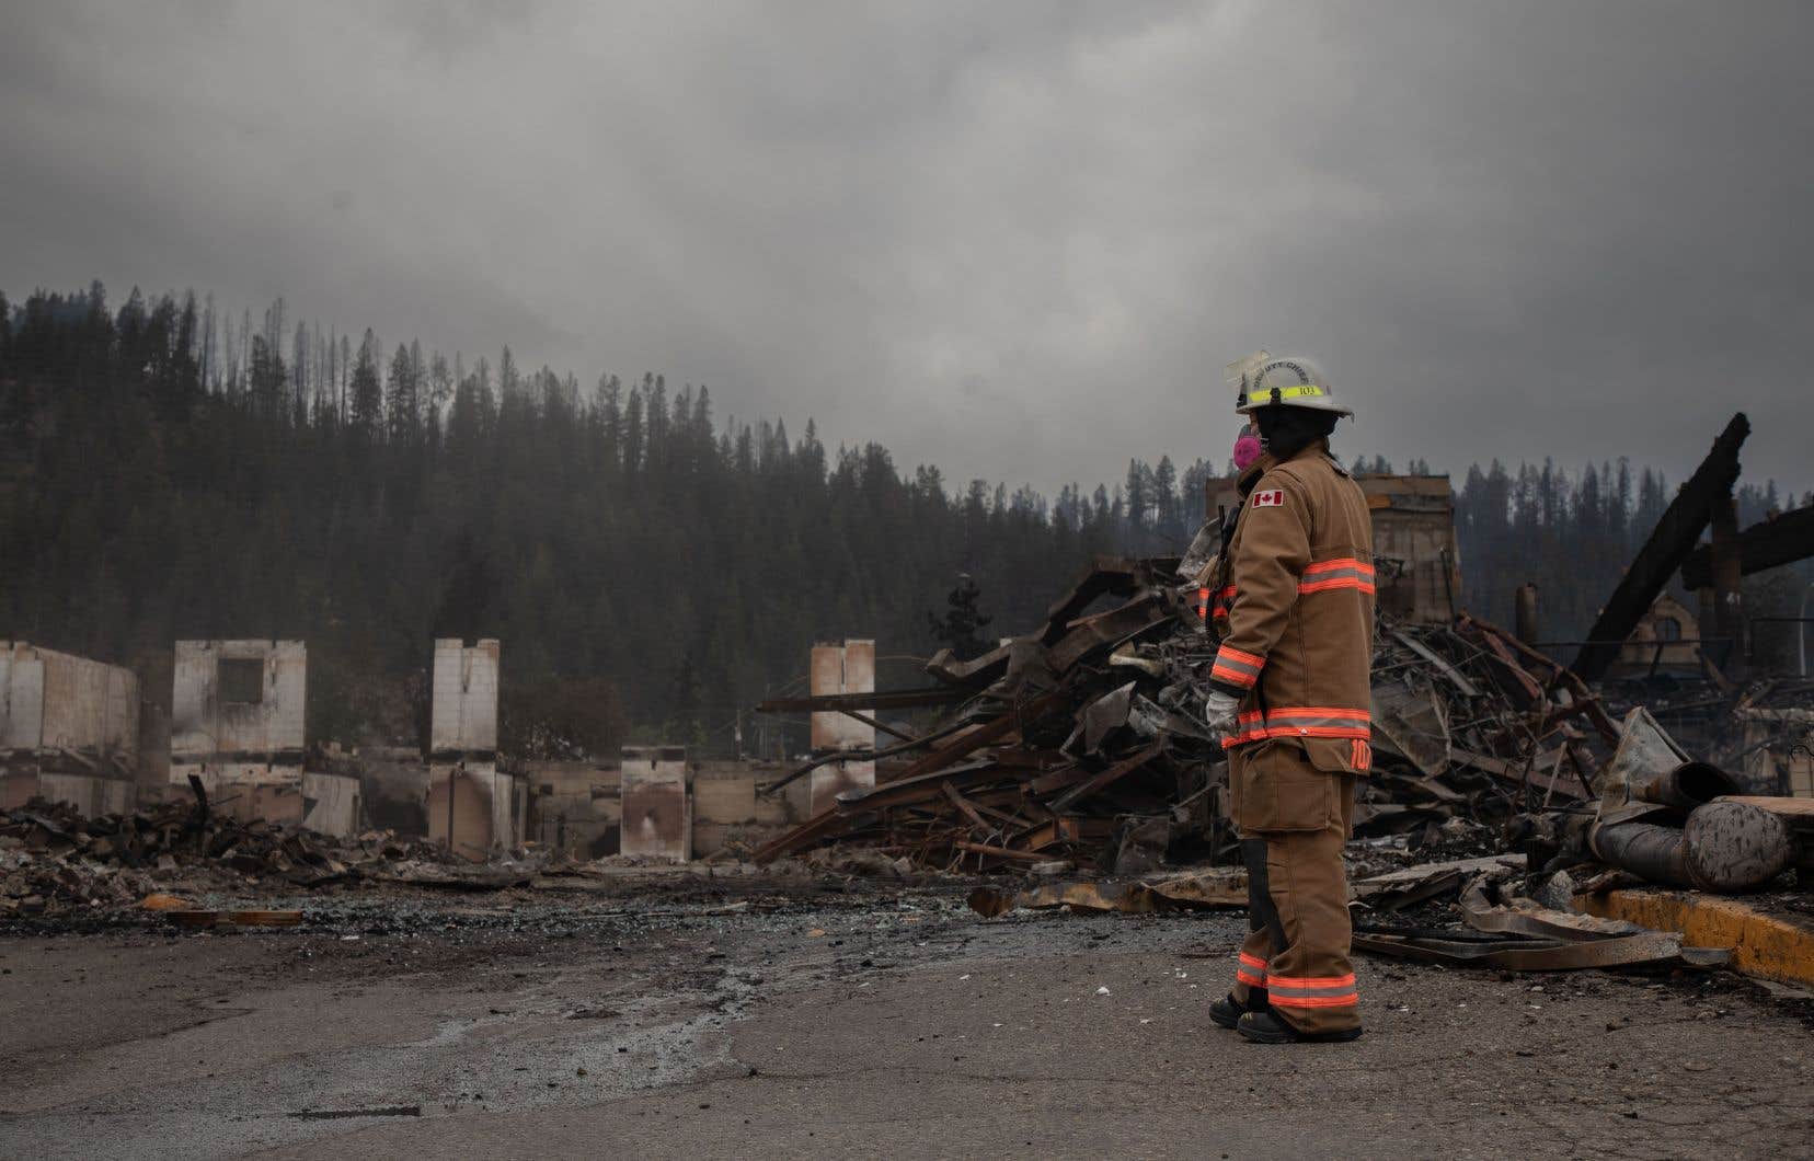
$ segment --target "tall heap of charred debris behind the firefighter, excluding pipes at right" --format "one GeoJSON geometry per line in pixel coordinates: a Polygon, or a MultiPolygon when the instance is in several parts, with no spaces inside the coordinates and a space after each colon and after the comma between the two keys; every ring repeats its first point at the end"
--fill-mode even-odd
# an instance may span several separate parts
{"type": "MultiPolygon", "coordinates": [[[[949,871],[1239,862],[1221,802],[1226,762],[1199,715],[1214,644],[1195,593],[1177,559],[1097,559],[1034,633],[972,660],[940,653],[927,666],[938,686],[911,693],[949,702],[945,718],[865,751],[896,764],[758,862],[825,844],[949,871]],[[1090,611],[1099,602],[1108,608],[1090,611]]],[[[900,695],[878,702],[889,697],[900,695]]],[[[1373,702],[1357,834],[1433,854],[1500,849],[1507,827],[1517,840],[1553,834],[1527,820],[1585,811],[1618,742],[1567,669],[1466,617],[1382,626],[1373,702]]],[[[851,755],[820,755],[784,782],[838,756],[851,755]]]]}

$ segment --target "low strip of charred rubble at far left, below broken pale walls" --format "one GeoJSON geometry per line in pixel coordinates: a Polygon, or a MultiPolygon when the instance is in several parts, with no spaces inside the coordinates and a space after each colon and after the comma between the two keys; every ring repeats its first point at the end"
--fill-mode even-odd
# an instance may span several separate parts
{"type": "Polygon", "coordinates": [[[299,827],[236,822],[210,811],[205,795],[100,818],[34,798],[0,815],[0,918],[127,905],[176,880],[314,889],[359,880],[454,885],[483,874],[446,862],[439,845],[390,831],[336,842],[299,827]]]}

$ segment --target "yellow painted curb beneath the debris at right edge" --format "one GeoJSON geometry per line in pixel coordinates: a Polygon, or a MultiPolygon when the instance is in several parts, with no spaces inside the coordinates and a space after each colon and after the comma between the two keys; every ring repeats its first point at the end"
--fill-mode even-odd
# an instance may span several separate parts
{"type": "Polygon", "coordinates": [[[1698,891],[1607,891],[1575,896],[1607,920],[1678,931],[1689,947],[1725,947],[1732,967],[1780,983],[1814,985],[1814,918],[1772,914],[1743,900],[1698,891]]]}

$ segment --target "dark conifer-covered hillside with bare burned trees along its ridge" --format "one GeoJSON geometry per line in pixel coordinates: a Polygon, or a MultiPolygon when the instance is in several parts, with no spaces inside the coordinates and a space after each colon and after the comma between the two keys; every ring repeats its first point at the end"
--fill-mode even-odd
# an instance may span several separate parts
{"type": "MultiPolygon", "coordinates": [[[[254,319],[100,285],[0,298],[0,626],[134,666],[154,697],[180,637],[307,639],[310,740],[350,742],[408,729],[388,693],[421,684],[432,635],[499,637],[506,688],[586,682],[600,747],[722,751],[816,639],[931,653],[960,573],[989,633],[1014,633],[1092,553],[1181,548],[1232,426],[1206,401],[1208,459],[1136,459],[1047,499],[907,470],[880,443],[827,448],[811,421],[722,421],[706,386],[658,376],[386,352],[281,303],[254,319]]],[[[1624,461],[1491,464],[1457,490],[1464,604],[1504,619],[1536,580],[1558,639],[1669,499],[1624,461]]],[[[1778,499],[1740,502],[1751,522],[1778,499]]]]}

